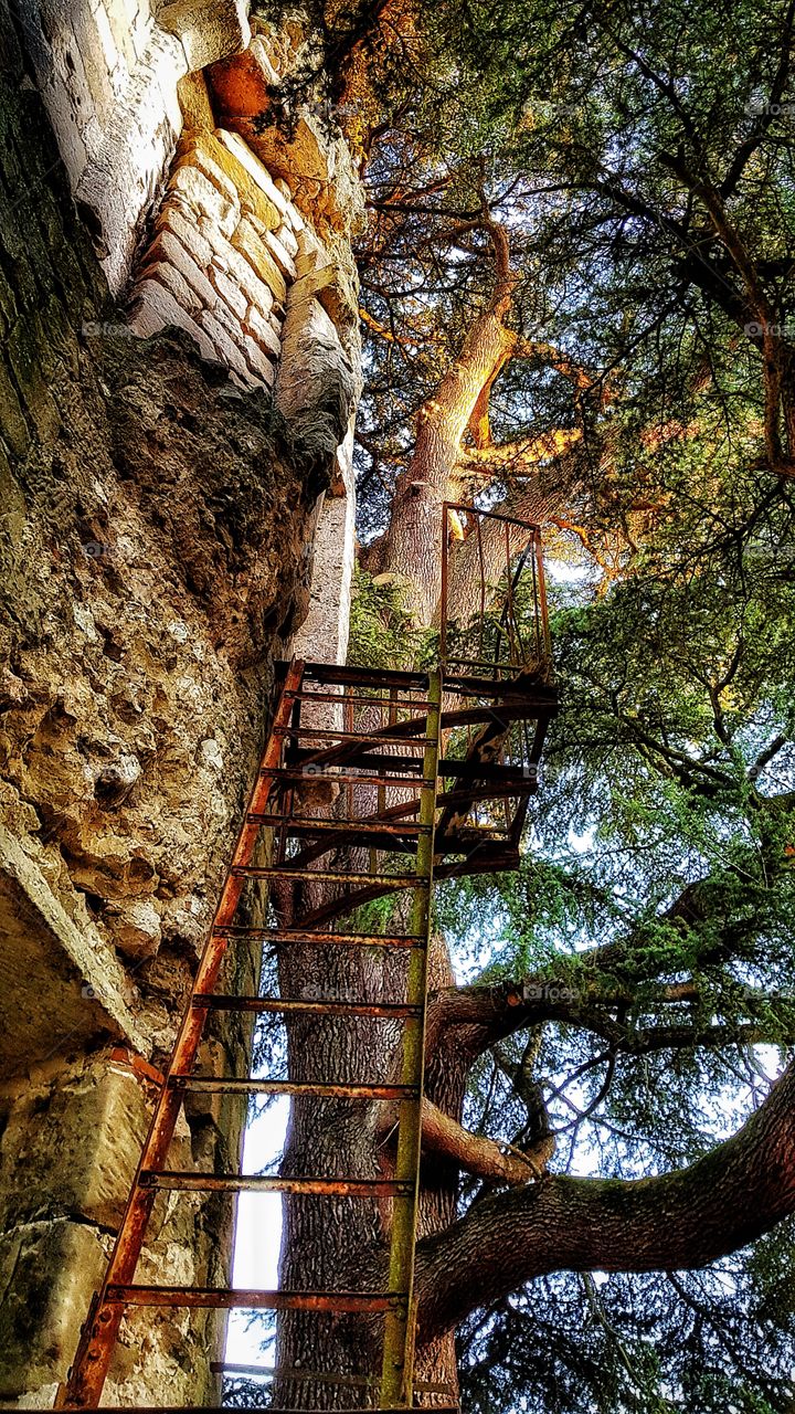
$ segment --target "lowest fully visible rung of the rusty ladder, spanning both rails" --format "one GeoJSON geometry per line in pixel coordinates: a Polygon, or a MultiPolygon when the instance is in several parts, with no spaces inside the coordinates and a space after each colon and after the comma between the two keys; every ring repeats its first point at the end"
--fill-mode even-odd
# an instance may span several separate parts
{"type": "Polygon", "coordinates": [[[378,1312],[405,1307],[402,1291],[229,1291],[224,1287],[108,1287],[113,1307],[214,1307],[222,1311],[347,1311],[378,1312]]]}

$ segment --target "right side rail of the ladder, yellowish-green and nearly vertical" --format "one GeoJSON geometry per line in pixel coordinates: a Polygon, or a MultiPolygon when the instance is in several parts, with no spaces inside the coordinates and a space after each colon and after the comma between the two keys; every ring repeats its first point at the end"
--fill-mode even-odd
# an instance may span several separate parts
{"type": "Polygon", "coordinates": [[[436,792],[439,783],[439,744],[441,718],[441,673],[430,674],[429,699],[433,707],[427,717],[427,744],[423,758],[423,789],[420,795],[420,824],[430,833],[417,841],[416,888],[412,905],[410,932],[426,937],[409,957],[406,1001],[420,1005],[420,1015],[403,1024],[400,1079],[417,1086],[416,1099],[400,1103],[398,1120],[398,1152],[395,1178],[409,1184],[405,1198],[392,1203],[392,1233],[389,1244],[389,1287],[410,1294],[409,1308],[389,1311],[383,1322],[383,1363],[381,1403],[386,1408],[410,1408],[414,1372],[414,1251],[417,1237],[417,1208],[420,1189],[422,1090],[424,1073],[424,1035],[427,1003],[427,966],[430,950],[430,918],[433,895],[433,863],[436,823],[436,792]]]}

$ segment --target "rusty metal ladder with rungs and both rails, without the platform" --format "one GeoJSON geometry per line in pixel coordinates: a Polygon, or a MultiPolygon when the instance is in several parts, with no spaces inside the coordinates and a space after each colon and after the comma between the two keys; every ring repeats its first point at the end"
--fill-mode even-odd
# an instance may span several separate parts
{"type": "MultiPolygon", "coordinates": [[[[383,1314],[383,1365],[381,1372],[381,1407],[409,1408],[413,1398],[413,1274],[414,1274],[414,1246],[416,1246],[416,1213],[420,1169],[420,1131],[422,1131],[422,1094],[423,1094],[423,1058],[424,1058],[424,1021],[426,1021],[426,991],[427,991],[427,953],[430,930],[430,905],[433,889],[434,867],[434,822],[437,813],[437,776],[439,776],[439,741],[440,741],[440,704],[441,704],[441,674],[431,672],[417,673],[388,673],[378,674],[358,669],[335,669],[328,665],[306,665],[293,662],[289,665],[282,690],[279,693],[273,724],[267,744],[257,771],[256,782],[243,816],[238,834],[226,880],[221,892],[221,899],[204,947],[201,962],[192,983],[192,991],[184,1010],[177,1041],[163,1077],[149,1135],[134,1174],[127,1205],[122,1219],[113,1253],[100,1290],[96,1292],[88,1319],[82,1328],[78,1350],[68,1380],[58,1393],[57,1407],[61,1408],[96,1408],[100,1406],[105,1380],[110,1367],[113,1350],[119,1338],[119,1331],[124,1314],[136,1307],[187,1307],[187,1308],[216,1308],[216,1309],[272,1309],[272,1311],[344,1311],[344,1312],[382,1312],[383,1314]],[[378,684],[386,684],[389,697],[378,697],[378,684]],[[364,684],[364,686],[362,686],[364,684]],[[366,762],[368,749],[372,752],[372,737],[356,734],[356,731],[324,730],[315,724],[301,725],[301,707],[310,703],[325,703],[328,713],[338,713],[335,706],[342,699],[340,693],[347,693],[351,687],[359,686],[359,703],[372,704],[388,701],[390,720],[393,720],[395,703],[403,694],[407,708],[420,708],[424,713],[424,728],[419,735],[422,754],[414,752],[412,758],[395,756],[378,758],[373,766],[362,766],[366,762]],[[422,691],[423,701],[417,703],[416,693],[422,691]],[[310,747],[301,748],[301,742],[310,747]],[[325,749],[318,751],[318,745],[325,749]],[[356,755],[356,748],[359,754],[356,755]],[[362,756],[361,751],[365,752],[362,756]],[[337,764],[325,768],[337,752],[337,764]],[[345,766],[348,761],[358,761],[358,765],[345,766]],[[276,864],[267,867],[255,865],[255,848],[260,830],[282,826],[293,837],[307,836],[315,839],[314,858],[317,860],[321,847],[317,846],[317,836],[323,831],[338,833],[340,844],[349,841],[351,831],[356,836],[356,820],[301,820],[294,812],[294,790],[291,785],[306,775],[306,759],[315,762],[311,768],[314,776],[325,775],[325,779],[337,782],[348,778],[356,782],[378,785],[379,800],[385,797],[389,785],[409,788],[416,792],[417,807],[414,819],[406,824],[373,820],[368,817],[362,822],[359,836],[366,836],[375,853],[371,861],[378,858],[378,853],[396,847],[406,858],[406,850],[413,850],[413,870],[403,870],[400,874],[341,874],[325,868],[311,868],[313,850],[304,848],[308,855],[307,863],[291,864],[290,858],[280,857],[276,864]],[[320,765],[318,765],[320,762],[320,765]],[[341,764],[340,764],[341,762],[341,764]],[[276,792],[287,797],[289,810],[283,814],[269,810],[269,802],[276,792]],[[399,844],[396,840],[399,836],[399,844]],[[395,844],[392,846],[392,841],[395,844]],[[300,929],[279,928],[248,928],[236,925],[235,916],[246,881],[260,878],[269,882],[282,880],[310,880],[335,882],[342,891],[345,887],[358,889],[362,887],[375,888],[383,894],[390,888],[409,889],[412,894],[410,921],[407,933],[400,936],[381,936],[364,933],[328,932],[328,923],[318,919],[300,929]],[[231,945],[240,936],[262,939],[274,947],[290,942],[311,943],[323,946],[381,946],[402,947],[409,950],[406,967],[406,998],[403,1004],[368,1005],[362,1003],[300,1001],[282,997],[248,997],[226,995],[218,991],[222,963],[231,945]],[[205,1032],[207,1018],[212,1011],[240,1011],[240,1012],[296,1012],[308,1011],[341,1015],[345,1011],[352,1014],[396,1014],[402,1021],[402,1066],[400,1080],[395,1085],[345,1085],[332,1086],[327,1083],[267,1080],[252,1076],[242,1077],[204,1077],[195,1073],[199,1045],[205,1032]],[[195,1092],[238,1092],[238,1093],[270,1093],[270,1094],[328,1094],[330,1089],[335,1094],[347,1099],[389,1100],[399,1102],[399,1128],[396,1168],[393,1178],[378,1179],[337,1179],[337,1178],[280,1178],[280,1176],[248,1176],[242,1174],[201,1174],[194,1169],[175,1171],[168,1168],[168,1151],[174,1137],[177,1120],[185,1096],[195,1092]],[[136,1268],[141,1256],[146,1239],[147,1223],[153,1212],[157,1193],[163,1189],[182,1189],[191,1192],[240,1192],[253,1189],[260,1192],[289,1192],[313,1196],[340,1195],[351,1199],[389,1196],[393,1203],[393,1219],[390,1232],[389,1277],[386,1291],[355,1292],[355,1291],[250,1291],[233,1288],[198,1288],[198,1287],[166,1287],[136,1284],[136,1268]]],[[[422,717],[416,718],[422,725],[422,717]]],[[[348,723],[349,725],[349,723],[348,723]]],[[[381,732],[378,744],[389,742],[389,734],[381,732]]],[[[403,747],[405,738],[400,738],[403,747]]],[[[348,797],[352,799],[352,789],[348,797]]],[[[356,837],[359,837],[356,836],[356,837]]],[[[328,843],[328,834],[323,841],[328,843]]],[[[283,851],[282,851],[283,853],[283,851]]],[[[351,896],[354,896],[351,894],[351,896]]],[[[342,892],[344,905],[344,892],[342,892]]],[[[344,906],[337,912],[345,912],[344,906]]],[[[289,1379],[289,1372],[283,1373],[289,1379]]],[[[352,1383],[342,1379],[340,1383],[352,1383]]],[[[372,1384],[371,1377],[359,1383],[372,1384]]]]}

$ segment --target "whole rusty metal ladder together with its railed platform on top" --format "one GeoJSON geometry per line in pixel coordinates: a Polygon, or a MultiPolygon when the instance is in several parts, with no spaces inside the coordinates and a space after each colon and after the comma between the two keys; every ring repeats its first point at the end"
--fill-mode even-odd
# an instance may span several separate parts
{"type": "MultiPolygon", "coordinates": [[[[448,510],[457,508],[446,508],[448,510]]],[[[460,509],[460,508],[458,508],[460,509]]],[[[443,665],[399,672],[304,663],[280,666],[267,742],[229,860],[226,880],[192,983],[171,1059],[154,1077],[157,1100],[113,1254],[82,1328],[59,1408],[102,1408],[100,1398],[124,1312],[132,1308],[269,1309],[345,1312],[383,1322],[382,1366],[359,1376],[317,1376],[328,1383],[379,1390],[383,1410],[410,1408],[413,1379],[413,1270],[419,1200],[427,954],[434,880],[512,868],[545,734],[557,707],[549,682],[549,632],[538,527],[491,512],[506,584],[501,617],[481,611],[453,631],[447,625],[448,561],[443,556],[443,665]],[[528,550],[529,534],[529,550],[528,550]],[[519,602],[521,571],[530,566],[530,598],[519,602]],[[529,604],[529,608],[528,608],[529,604]],[[480,626],[478,626],[480,625],[480,626]],[[528,642],[529,625],[529,642],[528,642]],[[468,656],[467,656],[468,655],[468,656]],[[491,656],[489,656],[491,655],[491,656]],[[474,676],[470,676],[474,674],[474,676]],[[269,833],[270,863],[257,844],[269,833]],[[240,901],[252,881],[276,887],[282,925],[249,926],[240,901]],[[372,899],[403,894],[405,928],[356,930],[349,915],[372,899]],[[308,902],[307,902],[308,899],[308,902]],[[348,922],[345,922],[348,919],[348,922]],[[331,926],[335,923],[338,926],[331,926]],[[246,945],[266,956],[291,947],[334,952],[378,947],[405,962],[400,998],[229,994],[221,988],[231,949],[246,945]],[[399,1065],[390,1083],[366,1076],[284,1079],[263,1075],[202,1075],[199,1044],[208,1017],[369,1017],[400,1028],[399,1065]],[[170,1161],[171,1140],[187,1096],[195,1092],[289,1094],[301,1103],[334,1100],[398,1103],[395,1172],[389,1176],[301,1174],[297,1176],[208,1174],[170,1161]],[[282,1192],[300,1199],[392,1205],[390,1249],[383,1290],[293,1291],[232,1287],[153,1285],[136,1281],[157,1193],[282,1192]]],[[[474,520],[475,539],[481,537],[474,520]]],[[[447,542],[446,542],[447,544],[447,542]]],[[[494,549],[494,546],[492,546],[494,549]]],[[[482,551],[482,543],[480,544],[482,551]]],[[[485,564],[484,553],[481,560],[485,564]]],[[[485,571],[484,571],[485,573],[485,571]]],[[[216,1373],[231,1367],[216,1366],[216,1373]]],[[[265,1372],[262,1372],[265,1373],[265,1372]]],[[[300,1387],[306,1372],[279,1370],[300,1387]]],[[[426,1387],[430,1393],[430,1387],[426,1387]]],[[[434,1387],[434,1394],[450,1394],[434,1387]]],[[[280,1397],[284,1397],[280,1394],[280,1397]]],[[[300,1406],[296,1406],[300,1407],[300,1406]]],[[[454,1404],[446,1406],[453,1411],[454,1404]]],[[[175,1414],[175,1411],[174,1411],[175,1414]]],[[[294,1414],[294,1411],[293,1411],[294,1414]]]]}

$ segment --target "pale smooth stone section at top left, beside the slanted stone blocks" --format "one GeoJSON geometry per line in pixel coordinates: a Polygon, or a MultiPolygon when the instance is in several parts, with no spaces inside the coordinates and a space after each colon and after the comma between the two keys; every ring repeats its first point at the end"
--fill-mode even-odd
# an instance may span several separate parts
{"type": "Polygon", "coordinates": [[[243,7],[20,0],[14,8],[71,188],[117,293],[182,129],[178,82],[248,44],[243,7]]]}

